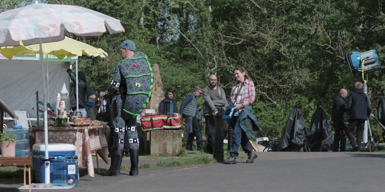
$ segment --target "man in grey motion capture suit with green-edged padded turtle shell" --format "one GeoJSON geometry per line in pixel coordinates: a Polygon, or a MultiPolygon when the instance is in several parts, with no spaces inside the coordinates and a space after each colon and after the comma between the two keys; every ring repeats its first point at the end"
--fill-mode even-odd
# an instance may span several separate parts
{"type": "Polygon", "coordinates": [[[120,44],[120,61],[114,72],[105,97],[112,97],[111,127],[108,140],[111,149],[110,169],[103,176],[118,176],[123,157],[124,132],[127,132],[131,169],[129,174],[138,175],[139,136],[136,130],[136,116],[142,112],[150,100],[153,88],[153,73],[147,56],[135,52],[135,43],[125,40],[120,44]]]}

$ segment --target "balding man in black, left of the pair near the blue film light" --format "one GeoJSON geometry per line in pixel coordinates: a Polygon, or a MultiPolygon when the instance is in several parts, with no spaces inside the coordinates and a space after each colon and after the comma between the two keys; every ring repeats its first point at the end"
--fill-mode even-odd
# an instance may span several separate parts
{"type": "Polygon", "coordinates": [[[334,144],[333,151],[346,151],[346,113],[348,112],[345,98],[347,97],[346,89],[341,89],[340,93],[334,97],[332,104],[332,121],[334,127],[334,144]],[[341,145],[339,144],[341,140],[341,145]]]}

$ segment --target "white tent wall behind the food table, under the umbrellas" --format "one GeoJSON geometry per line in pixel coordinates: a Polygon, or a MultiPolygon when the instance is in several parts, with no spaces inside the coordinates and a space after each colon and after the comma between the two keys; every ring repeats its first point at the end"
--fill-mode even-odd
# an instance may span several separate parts
{"type": "MultiPolygon", "coordinates": [[[[71,63],[74,63],[77,57],[64,58],[63,60],[51,55],[48,55],[48,57],[49,100],[47,102],[53,104],[56,102],[56,93],[61,93],[64,84],[69,93],[70,77],[65,62],[71,61],[71,63]]],[[[46,66],[44,71],[46,73],[46,66]]],[[[36,115],[35,93],[39,91],[39,98],[43,98],[39,54],[13,57],[11,61],[0,54],[0,77],[0,98],[9,108],[13,111],[27,111],[30,115],[32,114],[32,108],[35,108],[34,113],[36,115]]]]}

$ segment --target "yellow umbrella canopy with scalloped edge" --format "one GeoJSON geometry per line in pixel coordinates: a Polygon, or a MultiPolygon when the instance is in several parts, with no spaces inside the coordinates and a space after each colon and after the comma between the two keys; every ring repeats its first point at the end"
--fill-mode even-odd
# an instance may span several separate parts
{"type": "MultiPolygon", "coordinates": [[[[42,44],[42,53],[48,55],[54,55],[59,59],[63,59],[65,57],[74,57],[74,56],[82,56],[85,55],[87,57],[106,57],[108,56],[107,52],[103,51],[103,49],[95,48],[86,43],[77,41],[75,39],[66,37],[64,40],[49,42],[42,44]]],[[[39,44],[26,45],[20,41],[20,45],[18,46],[3,46],[0,47],[0,54],[9,60],[12,59],[14,55],[21,54],[39,54],[40,48],[39,44]]]]}

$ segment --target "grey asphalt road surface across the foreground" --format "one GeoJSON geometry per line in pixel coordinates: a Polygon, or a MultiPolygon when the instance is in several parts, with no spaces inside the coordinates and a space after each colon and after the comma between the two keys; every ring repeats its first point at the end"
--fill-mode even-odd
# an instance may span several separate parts
{"type": "MultiPolygon", "coordinates": [[[[119,177],[82,175],[72,189],[32,192],[385,192],[385,153],[257,154],[254,163],[140,168],[137,177],[128,170],[119,177]]],[[[108,167],[103,161],[100,166],[108,167]]],[[[22,185],[22,179],[0,180],[0,192],[28,192],[18,189],[22,185]]]]}

